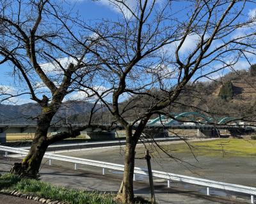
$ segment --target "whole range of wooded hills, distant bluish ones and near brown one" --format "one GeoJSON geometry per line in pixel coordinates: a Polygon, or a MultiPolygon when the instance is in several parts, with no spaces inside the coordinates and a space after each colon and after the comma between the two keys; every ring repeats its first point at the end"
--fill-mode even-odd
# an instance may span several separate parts
{"type": "MultiPolygon", "coordinates": [[[[127,119],[132,120],[136,114],[147,109],[150,101],[134,100],[138,110],[134,108],[126,113],[127,119]],[[140,109],[140,110],[139,110],[140,109]]],[[[120,104],[125,106],[129,99],[120,104]]],[[[180,94],[178,103],[166,108],[166,112],[189,112],[205,110],[217,115],[243,117],[253,113],[256,107],[256,67],[252,70],[230,72],[224,77],[207,82],[188,85],[180,94]]],[[[132,103],[134,104],[134,103],[132,103]]],[[[86,122],[93,104],[86,101],[68,101],[63,103],[55,119],[66,119],[70,122],[86,122]]],[[[97,108],[96,108],[97,109],[97,108]]],[[[36,117],[40,107],[35,103],[24,105],[0,105],[0,122],[6,120],[26,120],[36,117]]],[[[156,115],[153,115],[156,117],[156,115]]],[[[110,122],[111,115],[104,109],[95,113],[93,119],[97,122],[110,122]]]]}

